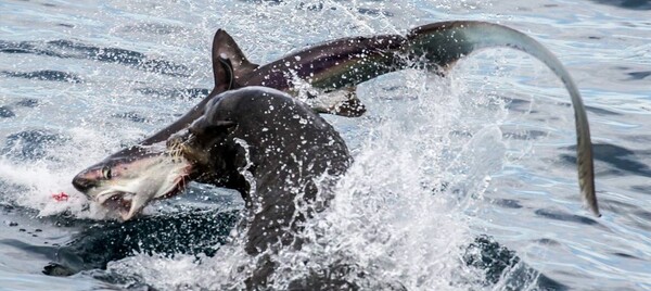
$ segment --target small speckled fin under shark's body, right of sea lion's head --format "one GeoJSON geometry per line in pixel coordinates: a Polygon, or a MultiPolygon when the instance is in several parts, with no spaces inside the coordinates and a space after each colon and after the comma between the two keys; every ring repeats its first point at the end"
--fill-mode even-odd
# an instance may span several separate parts
{"type": "Polygon", "coordinates": [[[355,92],[356,87],[311,96],[307,103],[318,113],[328,113],[346,117],[359,117],[366,113],[366,106],[355,92]]]}

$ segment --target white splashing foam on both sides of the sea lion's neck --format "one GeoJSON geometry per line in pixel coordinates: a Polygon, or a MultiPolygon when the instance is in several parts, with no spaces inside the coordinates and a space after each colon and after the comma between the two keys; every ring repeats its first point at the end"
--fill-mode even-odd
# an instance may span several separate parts
{"type": "MultiPolygon", "coordinates": [[[[356,265],[369,280],[409,290],[467,290],[472,280],[464,278],[477,276],[460,254],[472,240],[468,214],[505,159],[496,122],[503,109],[477,106],[488,97],[468,97],[454,78],[413,71],[397,79],[405,89],[382,90],[390,85],[381,80],[360,88],[370,105],[381,107],[357,125],[363,130],[353,129],[355,163],[332,205],[308,222],[312,242],[276,257],[283,271],[275,288],[286,289],[310,268],[337,262],[356,265]],[[413,98],[387,103],[404,94],[413,98]],[[468,118],[477,115],[481,123],[468,118]]],[[[138,255],[112,263],[111,269],[137,274],[161,289],[222,289],[242,287],[245,276],[238,267],[246,262],[241,248],[229,245],[201,263],[183,255],[138,255]]],[[[372,288],[373,281],[367,283],[372,288]]]]}

